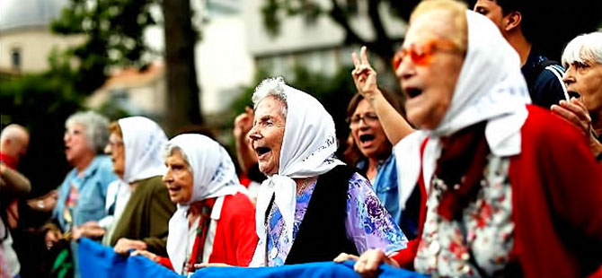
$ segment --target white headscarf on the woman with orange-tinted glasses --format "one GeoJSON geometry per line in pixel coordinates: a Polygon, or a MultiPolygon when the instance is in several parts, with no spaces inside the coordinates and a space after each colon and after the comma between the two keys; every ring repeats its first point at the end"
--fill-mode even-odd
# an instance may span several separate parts
{"type": "Polygon", "coordinates": [[[520,72],[518,53],[486,17],[466,11],[466,19],[468,49],[445,117],[435,129],[414,132],[394,147],[402,208],[412,194],[421,166],[424,181],[429,183],[441,153],[440,136],[453,135],[486,120],[485,138],[493,154],[520,153],[520,128],[527,119],[525,105],[531,99],[520,72]],[[427,136],[421,164],[420,146],[427,136]]]}

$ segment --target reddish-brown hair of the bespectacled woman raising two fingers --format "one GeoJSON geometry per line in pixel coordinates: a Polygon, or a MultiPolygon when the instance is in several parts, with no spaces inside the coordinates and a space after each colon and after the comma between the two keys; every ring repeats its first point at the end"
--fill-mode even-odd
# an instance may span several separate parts
{"type": "MultiPolygon", "coordinates": [[[[402,114],[405,117],[405,111],[403,110],[402,99],[399,95],[393,94],[390,91],[385,90],[384,88],[378,88],[383,93],[385,100],[389,102],[397,112],[402,114]]],[[[355,110],[358,108],[359,101],[364,100],[364,97],[359,93],[356,93],[353,98],[351,98],[349,105],[347,106],[347,118],[353,116],[355,110]]],[[[388,140],[387,140],[388,143],[388,140]]],[[[359,160],[364,158],[364,154],[359,151],[358,144],[353,140],[353,136],[350,135],[347,137],[345,142],[346,148],[343,152],[343,160],[349,163],[352,166],[355,166],[359,160]]]]}

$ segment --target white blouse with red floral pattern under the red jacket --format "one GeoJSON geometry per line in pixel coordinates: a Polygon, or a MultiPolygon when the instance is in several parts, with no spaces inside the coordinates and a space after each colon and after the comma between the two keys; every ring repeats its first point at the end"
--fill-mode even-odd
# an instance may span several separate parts
{"type": "Polygon", "coordinates": [[[451,221],[438,214],[438,206],[441,195],[456,188],[433,176],[414,259],[416,271],[446,277],[494,277],[504,270],[514,244],[508,169],[508,158],[489,156],[476,199],[460,219],[451,221]]]}

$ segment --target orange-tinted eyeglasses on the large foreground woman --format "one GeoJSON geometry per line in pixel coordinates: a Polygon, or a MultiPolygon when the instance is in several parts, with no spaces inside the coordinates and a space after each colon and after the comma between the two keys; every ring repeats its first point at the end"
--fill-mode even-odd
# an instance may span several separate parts
{"type": "Polygon", "coordinates": [[[458,47],[448,39],[430,39],[421,45],[412,43],[409,48],[401,48],[395,53],[393,69],[397,70],[399,65],[402,65],[403,58],[408,55],[416,65],[429,65],[436,51],[456,52],[458,47]]]}

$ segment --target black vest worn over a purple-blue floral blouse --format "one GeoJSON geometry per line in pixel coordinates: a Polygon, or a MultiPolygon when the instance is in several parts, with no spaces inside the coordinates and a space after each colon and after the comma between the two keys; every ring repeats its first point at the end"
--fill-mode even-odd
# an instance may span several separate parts
{"type": "Polygon", "coordinates": [[[345,229],[347,191],[355,172],[340,165],[318,178],[285,265],[332,261],[341,252],[359,255],[345,229]]]}

